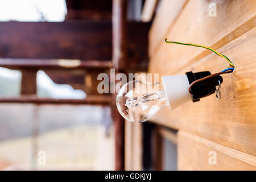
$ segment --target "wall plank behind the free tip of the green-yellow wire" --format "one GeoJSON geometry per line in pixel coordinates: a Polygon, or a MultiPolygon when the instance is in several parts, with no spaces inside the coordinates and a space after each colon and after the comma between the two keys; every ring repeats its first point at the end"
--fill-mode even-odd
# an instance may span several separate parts
{"type": "MultiPolygon", "coordinates": [[[[168,31],[168,40],[203,44],[218,49],[256,24],[256,1],[213,1],[217,16],[208,15],[209,1],[189,1],[168,31]]],[[[175,74],[211,51],[192,46],[160,44],[150,61],[150,72],[175,74]],[[164,67],[163,67],[164,65],[164,67]]]]}

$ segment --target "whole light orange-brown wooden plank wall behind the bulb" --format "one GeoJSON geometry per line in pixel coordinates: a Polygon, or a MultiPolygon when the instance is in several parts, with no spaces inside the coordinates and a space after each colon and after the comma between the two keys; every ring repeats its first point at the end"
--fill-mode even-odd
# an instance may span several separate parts
{"type": "Polygon", "coordinates": [[[229,57],[235,72],[224,75],[222,98],[214,94],[152,121],[179,130],[178,169],[256,169],[256,1],[162,0],[149,35],[148,72],[184,75],[220,72],[228,62],[207,49],[164,43],[203,44],[229,57]],[[209,16],[209,3],[217,16],[209,16]],[[210,165],[209,152],[217,154],[210,165]]]}

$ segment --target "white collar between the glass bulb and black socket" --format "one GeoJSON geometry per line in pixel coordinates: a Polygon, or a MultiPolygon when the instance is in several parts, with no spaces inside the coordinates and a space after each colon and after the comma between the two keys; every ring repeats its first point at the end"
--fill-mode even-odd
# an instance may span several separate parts
{"type": "Polygon", "coordinates": [[[162,76],[162,82],[171,110],[192,100],[193,96],[188,92],[189,81],[186,75],[162,76]]]}

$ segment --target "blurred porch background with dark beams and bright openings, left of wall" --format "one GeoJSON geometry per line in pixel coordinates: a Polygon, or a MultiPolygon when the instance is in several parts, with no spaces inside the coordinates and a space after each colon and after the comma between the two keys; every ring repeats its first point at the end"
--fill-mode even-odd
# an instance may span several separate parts
{"type": "Polygon", "coordinates": [[[124,168],[124,121],[97,75],[147,71],[144,3],[0,0],[1,170],[124,168]]]}

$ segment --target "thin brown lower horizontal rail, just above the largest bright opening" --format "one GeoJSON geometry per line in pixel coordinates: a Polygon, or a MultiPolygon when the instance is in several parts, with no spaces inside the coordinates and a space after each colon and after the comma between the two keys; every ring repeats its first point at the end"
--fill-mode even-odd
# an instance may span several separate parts
{"type": "Polygon", "coordinates": [[[67,104],[67,105],[109,105],[110,96],[88,96],[85,99],[55,99],[36,96],[0,97],[0,103],[67,104]]]}

